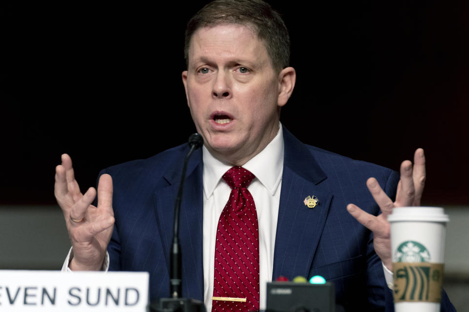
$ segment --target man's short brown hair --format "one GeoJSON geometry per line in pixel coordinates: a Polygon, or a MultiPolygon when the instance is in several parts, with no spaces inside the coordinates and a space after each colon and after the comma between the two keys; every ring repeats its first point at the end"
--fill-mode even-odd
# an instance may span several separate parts
{"type": "Polygon", "coordinates": [[[280,15],[263,0],[214,0],[197,12],[186,28],[184,57],[189,64],[193,34],[202,27],[239,24],[250,27],[265,44],[272,66],[278,72],[290,62],[290,37],[280,15]]]}

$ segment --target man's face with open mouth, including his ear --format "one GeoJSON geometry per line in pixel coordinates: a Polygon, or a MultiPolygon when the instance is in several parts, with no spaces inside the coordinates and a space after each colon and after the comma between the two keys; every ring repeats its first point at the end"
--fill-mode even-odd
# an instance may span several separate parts
{"type": "Polygon", "coordinates": [[[291,94],[284,92],[284,71],[277,74],[248,27],[223,24],[193,34],[182,78],[195,127],[213,156],[243,165],[276,136],[279,109],[291,94]]]}

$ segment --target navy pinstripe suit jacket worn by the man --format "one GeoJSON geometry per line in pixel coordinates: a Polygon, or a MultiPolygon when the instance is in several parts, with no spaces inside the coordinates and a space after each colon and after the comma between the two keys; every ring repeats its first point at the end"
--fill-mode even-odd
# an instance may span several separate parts
{"type": "MultiPolygon", "coordinates": [[[[374,176],[393,198],[399,176],[374,164],[352,160],[301,143],[283,129],[285,153],[272,278],[322,275],[336,286],[346,310],[392,310],[381,261],[371,233],[348,214],[355,203],[377,215],[380,210],[365,181],[374,176]],[[319,198],[314,209],[303,200],[319,198]],[[355,307],[355,309],[354,309],[355,307]]],[[[110,167],[115,227],[107,248],[110,270],[148,271],[150,298],[169,296],[169,251],[173,205],[188,146],[144,160],[110,167]]],[[[202,152],[187,170],[180,214],[183,296],[203,300],[202,152]]]]}

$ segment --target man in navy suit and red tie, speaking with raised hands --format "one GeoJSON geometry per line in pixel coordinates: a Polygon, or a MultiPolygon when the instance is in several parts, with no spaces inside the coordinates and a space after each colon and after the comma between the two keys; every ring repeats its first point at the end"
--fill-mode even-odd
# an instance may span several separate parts
{"type": "MultiPolygon", "coordinates": [[[[420,203],[423,150],[413,168],[403,162],[397,185],[391,170],[304,145],[284,129],[280,108],[296,73],[288,66],[287,29],[265,2],[208,4],[188,24],[185,53],[182,79],[204,148],[188,164],[181,206],[183,296],[213,311],[262,310],[267,281],[320,274],[335,282],[337,301],[348,310],[392,309],[384,277],[392,263],[386,216],[393,207],[420,203]],[[251,179],[233,186],[232,169],[251,179]],[[233,211],[239,229],[228,220],[233,211]],[[253,246],[230,245],[231,239],[253,246]]],[[[169,296],[172,207],[187,151],[179,146],[107,169],[97,207],[91,205],[96,191],[80,193],[63,155],[55,195],[72,243],[64,267],[149,271],[151,299],[169,296]]]]}

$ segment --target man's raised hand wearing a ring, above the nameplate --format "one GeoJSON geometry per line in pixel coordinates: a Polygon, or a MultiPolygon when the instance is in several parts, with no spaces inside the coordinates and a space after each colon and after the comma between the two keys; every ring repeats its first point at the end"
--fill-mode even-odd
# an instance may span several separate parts
{"type": "Polygon", "coordinates": [[[71,270],[98,271],[102,269],[106,248],[112,235],[112,178],[102,175],[98,182],[98,207],[91,205],[96,190],[85,194],[73,173],[72,159],[62,155],[62,164],[55,169],[54,194],[64,213],[65,224],[73,248],[71,270]]]}

